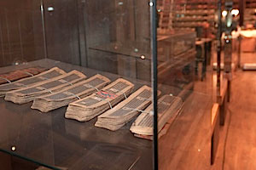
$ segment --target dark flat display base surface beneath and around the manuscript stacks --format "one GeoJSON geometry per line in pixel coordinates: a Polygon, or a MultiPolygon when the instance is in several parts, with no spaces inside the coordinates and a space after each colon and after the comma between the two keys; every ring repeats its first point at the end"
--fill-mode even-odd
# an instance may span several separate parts
{"type": "MultiPolygon", "coordinates": [[[[40,65],[45,68],[58,66],[65,71],[81,71],[88,77],[99,73],[110,78],[111,81],[118,78],[117,75],[107,72],[51,59],[33,61],[20,67],[30,65],[40,65]]],[[[12,71],[18,67],[2,67],[0,72],[12,71]]],[[[147,83],[135,79],[131,82],[136,84],[136,88],[147,83]]],[[[149,82],[148,84],[150,85],[149,82]]],[[[113,133],[95,127],[96,118],[85,123],[65,119],[67,107],[43,114],[32,110],[31,105],[32,102],[15,105],[3,98],[0,99],[0,149],[49,167],[152,168],[153,143],[135,138],[129,131],[129,123],[113,133]],[[13,146],[16,148],[15,151],[11,150],[13,146]]]]}

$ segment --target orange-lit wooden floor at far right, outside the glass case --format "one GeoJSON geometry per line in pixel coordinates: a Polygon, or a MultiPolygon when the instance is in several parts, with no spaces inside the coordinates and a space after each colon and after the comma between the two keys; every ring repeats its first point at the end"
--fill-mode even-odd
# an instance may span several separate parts
{"type": "MultiPolygon", "coordinates": [[[[256,54],[241,61],[256,62],[256,54]],[[255,59],[254,59],[254,58],[255,59]]],[[[236,71],[225,126],[220,129],[217,158],[211,170],[256,169],[256,71],[236,71]]]]}

